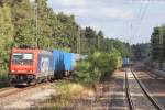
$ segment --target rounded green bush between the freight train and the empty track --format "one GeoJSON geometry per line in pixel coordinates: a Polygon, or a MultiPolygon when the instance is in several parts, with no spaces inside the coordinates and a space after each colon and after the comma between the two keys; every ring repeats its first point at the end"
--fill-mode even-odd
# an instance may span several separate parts
{"type": "Polygon", "coordinates": [[[121,54],[113,50],[109,53],[96,52],[76,66],[76,79],[88,86],[100,79],[105,74],[112,74],[121,66],[121,54]]]}

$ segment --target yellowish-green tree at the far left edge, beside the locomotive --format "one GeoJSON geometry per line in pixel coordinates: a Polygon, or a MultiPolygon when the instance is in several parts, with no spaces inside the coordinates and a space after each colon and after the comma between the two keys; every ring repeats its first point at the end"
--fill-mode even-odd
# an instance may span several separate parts
{"type": "Polygon", "coordinates": [[[0,7],[0,57],[3,67],[7,67],[9,50],[13,45],[13,24],[11,21],[11,9],[7,3],[0,7]]]}

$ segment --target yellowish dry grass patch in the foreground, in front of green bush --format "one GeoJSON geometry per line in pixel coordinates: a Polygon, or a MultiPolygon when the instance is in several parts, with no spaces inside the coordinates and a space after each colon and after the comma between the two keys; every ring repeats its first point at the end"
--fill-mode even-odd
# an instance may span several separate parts
{"type": "Polygon", "coordinates": [[[85,90],[82,85],[68,80],[59,80],[55,85],[56,95],[52,95],[51,99],[42,102],[35,110],[70,109],[85,90]]]}

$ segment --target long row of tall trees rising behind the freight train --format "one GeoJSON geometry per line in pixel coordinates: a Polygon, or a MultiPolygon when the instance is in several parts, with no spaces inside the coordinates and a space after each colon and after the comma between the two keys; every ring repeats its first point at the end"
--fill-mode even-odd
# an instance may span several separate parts
{"type": "Polygon", "coordinates": [[[47,0],[0,0],[0,63],[7,68],[9,51],[28,46],[80,54],[118,50],[131,56],[128,43],[106,38],[102,31],[82,29],[74,15],[55,13],[47,0]]]}

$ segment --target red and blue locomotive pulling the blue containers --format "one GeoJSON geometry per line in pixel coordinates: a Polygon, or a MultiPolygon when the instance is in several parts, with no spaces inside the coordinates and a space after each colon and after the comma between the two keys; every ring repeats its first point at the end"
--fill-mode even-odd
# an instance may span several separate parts
{"type": "Polygon", "coordinates": [[[13,48],[10,55],[9,79],[11,84],[36,84],[51,79],[53,73],[53,53],[42,50],[13,48]]]}

